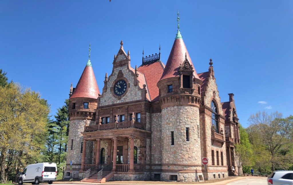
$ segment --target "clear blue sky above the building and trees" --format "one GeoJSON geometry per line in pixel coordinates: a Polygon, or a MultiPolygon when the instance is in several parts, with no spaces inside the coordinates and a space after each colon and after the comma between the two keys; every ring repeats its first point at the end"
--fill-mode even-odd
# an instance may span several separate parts
{"type": "Polygon", "coordinates": [[[0,1],[0,68],[39,91],[51,114],[88,59],[100,91],[124,42],[131,65],[159,52],[166,64],[177,30],[198,73],[213,59],[221,101],[234,93],[240,122],[257,111],[292,114],[293,1],[0,1]],[[259,103],[260,102],[260,103],[259,103]]]}

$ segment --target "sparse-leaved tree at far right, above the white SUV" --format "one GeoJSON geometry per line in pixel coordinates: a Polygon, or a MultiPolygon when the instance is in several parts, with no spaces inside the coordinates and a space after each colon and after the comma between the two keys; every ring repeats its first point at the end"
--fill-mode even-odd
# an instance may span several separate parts
{"type": "Polygon", "coordinates": [[[284,119],[278,112],[270,115],[258,112],[249,118],[251,125],[248,133],[251,143],[259,154],[268,158],[272,171],[276,167],[285,170],[292,164],[292,120],[292,116],[284,119]]]}

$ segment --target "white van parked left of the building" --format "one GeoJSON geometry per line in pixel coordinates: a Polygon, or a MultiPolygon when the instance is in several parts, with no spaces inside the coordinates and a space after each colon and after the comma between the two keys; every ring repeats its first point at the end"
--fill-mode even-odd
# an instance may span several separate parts
{"type": "Polygon", "coordinates": [[[28,165],[18,178],[18,184],[31,182],[32,184],[40,184],[40,182],[48,182],[52,184],[57,178],[56,163],[38,163],[28,165]]]}

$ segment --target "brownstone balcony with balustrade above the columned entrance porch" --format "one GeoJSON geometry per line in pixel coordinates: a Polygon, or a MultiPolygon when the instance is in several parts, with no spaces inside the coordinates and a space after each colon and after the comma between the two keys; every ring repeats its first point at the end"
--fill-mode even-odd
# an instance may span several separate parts
{"type": "Polygon", "coordinates": [[[108,123],[108,124],[98,124],[98,125],[91,125],[86,126],[85,132],[92,132],[98,130],[110,130],[110,129],[122,129],[122,128],[138,128],[144,130],[144,126],[142,123],[137,121],[127,121],[127,122],[115,122],[115,123],[108,123]]]}

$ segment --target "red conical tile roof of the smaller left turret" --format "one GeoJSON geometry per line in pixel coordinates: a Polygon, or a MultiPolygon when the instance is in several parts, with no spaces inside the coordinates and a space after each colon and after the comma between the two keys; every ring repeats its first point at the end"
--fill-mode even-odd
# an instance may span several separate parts
{"type": "Polygon", "coordinates": [[[70,98],[98,98],[100,94],[93,68],[86,66],[70,98]]]}

